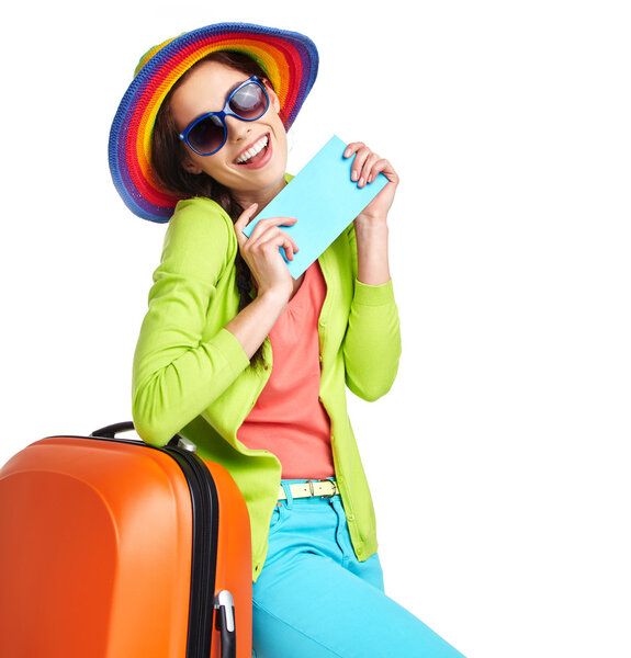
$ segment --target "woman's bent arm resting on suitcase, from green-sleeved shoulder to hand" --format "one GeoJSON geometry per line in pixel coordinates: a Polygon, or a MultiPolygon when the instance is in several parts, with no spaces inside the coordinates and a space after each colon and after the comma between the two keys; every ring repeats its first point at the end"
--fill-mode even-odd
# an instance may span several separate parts
{"type": "Polygon", "coordinates": [[[255,212],[250,206],[233,227],[218,206],[196,200],[171,219],[134,356],[134,422],[149,443],[165,444],[224,393],[289,299],[292,279],[279,246],[292,253],[295,245],[278,226],[291,220],[260,223],[246,246],[240,228],[255,212]],[[232,280],[222,281],[237,243],[259,288],[241,311],[232,280]]]}

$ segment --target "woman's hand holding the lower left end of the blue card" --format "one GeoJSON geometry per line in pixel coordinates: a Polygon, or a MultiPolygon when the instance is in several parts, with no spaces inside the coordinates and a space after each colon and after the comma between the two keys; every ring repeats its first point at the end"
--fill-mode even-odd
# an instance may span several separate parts
{"type": "Polygon", "coordinates": [[[235,222],[239,251],[255,279],[258,296],[278,295],[283,304],[286,304],[293,292],[293,279],[279,249],[282,247],[288,260],[291,261],[298,248],[293,238],[281,227],[292,226],[296,219],[294,217],[261,219],[247,238],[243,231],[257,209],[258,204],[253,203],[235,222]]]}

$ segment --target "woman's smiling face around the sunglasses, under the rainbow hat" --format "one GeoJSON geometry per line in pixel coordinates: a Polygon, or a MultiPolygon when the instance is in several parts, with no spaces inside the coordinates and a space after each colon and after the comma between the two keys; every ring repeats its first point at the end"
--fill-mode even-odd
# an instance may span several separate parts
{"type": "MultiPolygon", "coordinates": [[[[223,110],[229,93],[249,76],[217,61],[196,66],[176,89],[171,112],[178,129],[183,131],[192,121],[207,112],[223,110]]],[[[266,84],[270,105],[256,121],[240,121],[226,116],[227,138],[212,156],[200,156],[188,146],[182,166],[191,173],[205,172],[239,197],[275,194],[284,184],[286,167],[286,133],[279,116],[278,97],[266,84]],[[261,144],[267,146],[253,154],[261,144]],[[250,151],[250,154],[248,154],[250,151]],[[249,159],[248,155],[250,156],[249,159]]]]}

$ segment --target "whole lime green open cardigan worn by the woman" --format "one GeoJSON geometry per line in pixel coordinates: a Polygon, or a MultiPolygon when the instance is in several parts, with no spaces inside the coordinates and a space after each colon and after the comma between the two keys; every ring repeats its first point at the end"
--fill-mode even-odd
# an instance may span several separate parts
{"type": "MultiPolygon", "coordinates": [[[[164,445],[177,432],[198,454],[224,465],[241,490],[252,530],[252,578],[267,554],[281,464],[268,451],[248,450],[237,429],[271,373],[252,366],[225,325],[238,313],[235,256],[228,215],[209,198],[181,201],[170,219],[149,308],[134,356],[133,417],[138,434],[164,445]]],[[[352,225],[319,258],[327,294],[319,317],[320,399],[331,423],[336,478],[358,559],[376,551],[374,510],[350,427],[345,384],[374,400],[396,375],[401,353],[392,281],[357,281],[352,225]]]]}

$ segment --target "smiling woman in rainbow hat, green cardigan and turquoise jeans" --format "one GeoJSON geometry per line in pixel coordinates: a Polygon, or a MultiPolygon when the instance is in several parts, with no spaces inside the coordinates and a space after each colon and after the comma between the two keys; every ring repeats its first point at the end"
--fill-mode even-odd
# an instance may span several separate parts
{"type": "Polygon", "coordinates": [[[169,227],[135,353],[134,421],[156,445],[191,439],[244,494],[252,655],[453,658],[383,593],[346,409],[345,386],[375,399],[397,370],[386,223],[397,174],[348,145],[359,186],[378,173],[388,183],[295,281],[280,253],[300,249],[283,230],[295,218],[243,234],[288,183],[285,132],[316,72],[307,37],[245,24],[187,33],[140,61],[110,162],[127,205],[169,227]]]}

